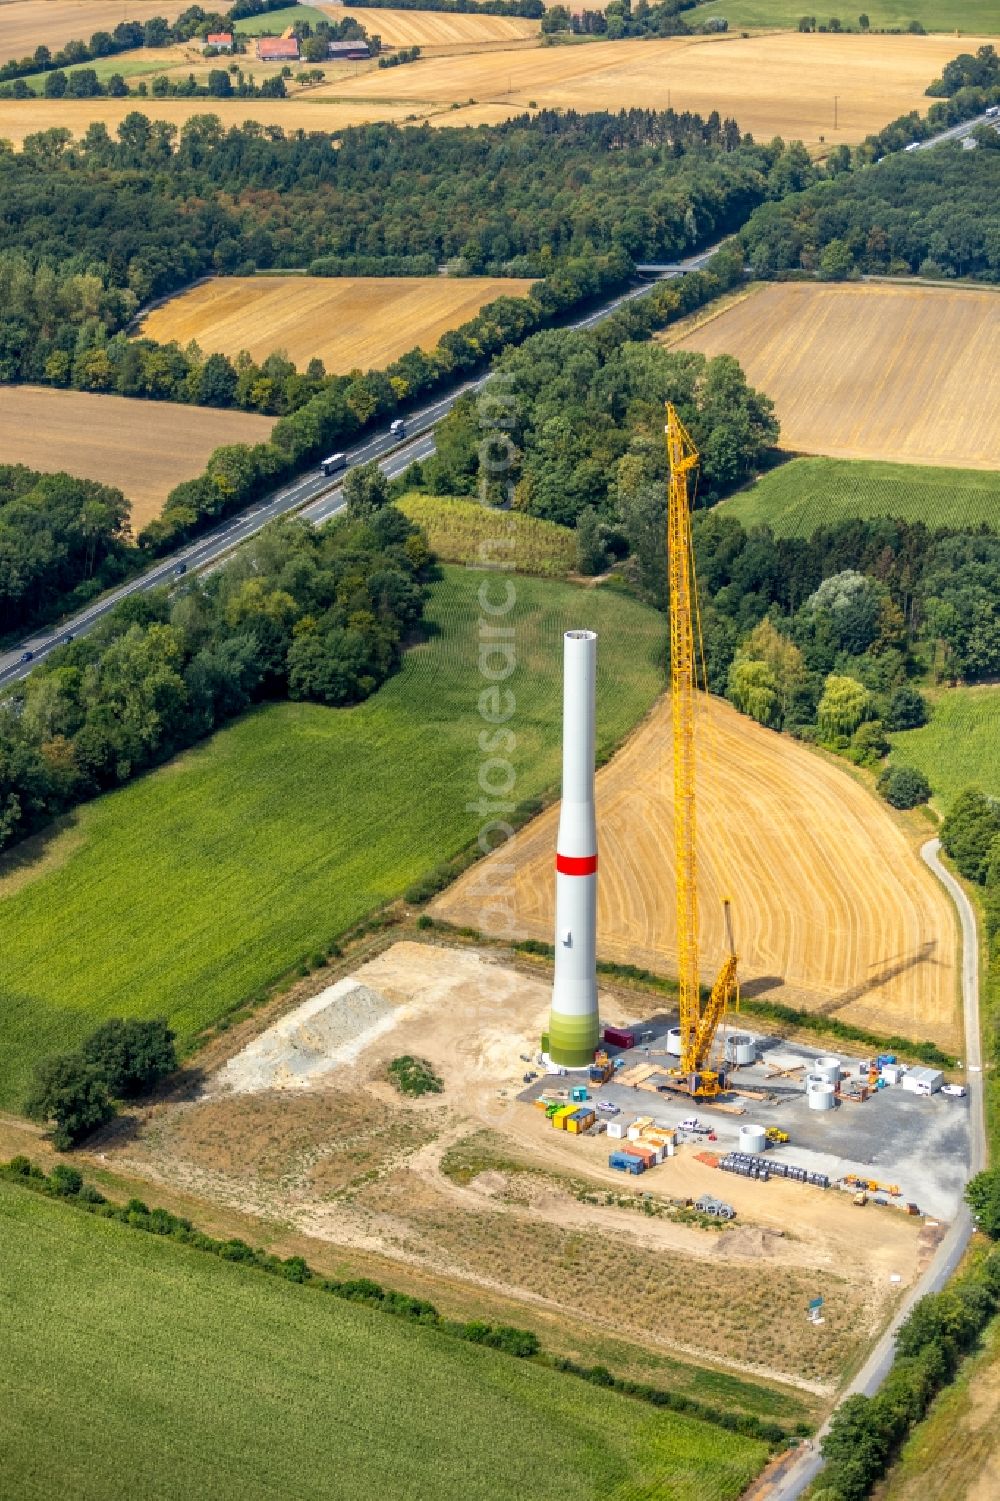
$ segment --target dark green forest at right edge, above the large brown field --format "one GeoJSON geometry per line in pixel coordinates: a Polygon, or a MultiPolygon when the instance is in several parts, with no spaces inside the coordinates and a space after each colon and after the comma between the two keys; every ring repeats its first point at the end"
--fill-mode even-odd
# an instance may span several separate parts
{"type": "Polygon", "coordinates": [[[763,206],[740,237],[757,276],[1000,281],[1000,150],[944,144],[889,156],[763,206]]]}

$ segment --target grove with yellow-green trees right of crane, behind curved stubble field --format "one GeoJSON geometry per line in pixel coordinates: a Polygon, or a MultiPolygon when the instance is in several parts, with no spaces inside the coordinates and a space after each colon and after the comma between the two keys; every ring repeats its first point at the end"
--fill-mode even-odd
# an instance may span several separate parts
{"type": "MultiPolygon", "coordinates": [[[[877,766],[886,731],[926,719],[917,678],[1000,672],[995,533],[872,519],[773,537],[719,510],[694,533],[709,683],[763,725],[877,766]]],[[[662,597],[662,549],[637,561],[662,597]]],[[[917,775],[881,790],[896,806],[929,793],[917,775]]]]}

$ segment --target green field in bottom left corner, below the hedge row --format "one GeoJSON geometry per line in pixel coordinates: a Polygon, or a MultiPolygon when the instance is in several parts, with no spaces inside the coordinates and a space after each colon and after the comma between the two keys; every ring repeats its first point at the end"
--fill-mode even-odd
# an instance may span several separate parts
{"type": "Polygon", "coordinates": [[[3,1183],[0,1231],[0,1490],[18,1501],[730,1501],[766,1457],[3,1183]]]}

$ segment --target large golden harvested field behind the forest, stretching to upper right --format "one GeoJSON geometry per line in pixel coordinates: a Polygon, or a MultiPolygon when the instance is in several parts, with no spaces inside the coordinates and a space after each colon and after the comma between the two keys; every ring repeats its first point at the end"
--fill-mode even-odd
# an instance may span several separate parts
{"type": "MultiPolygon", "coordinates": [[[[962,50],[974,51],[973,39],[962,50]]],[[[860,141],[908,110],[926,110],[923,93],[955,53],[953,38],[773,36],[665,38],[592,42],[467,57],[425,59],[410,68],[321,86],[338,99],[410,101],[413,108],[449,102],[503,105],[518,114],[539,108],[718,110],[743,131],[769,140],[799,137],[806,146],[833,140],[833,96],[839,96],[836,141],[860,141]]],[[[477,120],[479,116],[470,119],[477,120]]],[[[464,110],[447,123],[464,125],[464,110]]]]}

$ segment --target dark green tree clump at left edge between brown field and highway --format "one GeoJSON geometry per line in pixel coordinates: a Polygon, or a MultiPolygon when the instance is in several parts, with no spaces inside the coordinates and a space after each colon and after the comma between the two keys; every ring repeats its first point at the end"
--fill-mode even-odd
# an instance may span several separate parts
{"type": "Polygon", "coordinates": [[[83,605],[135,561],[120,489],[0,465],[0,633],[83,605]]]}

